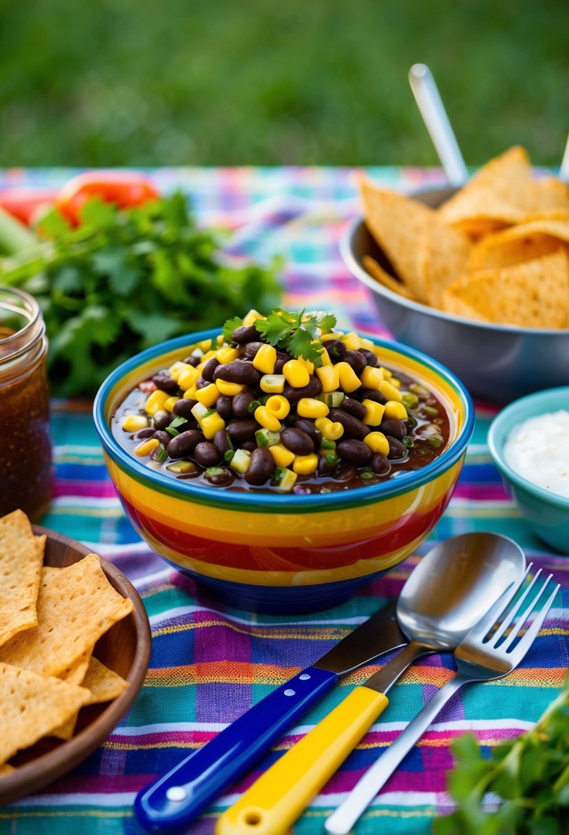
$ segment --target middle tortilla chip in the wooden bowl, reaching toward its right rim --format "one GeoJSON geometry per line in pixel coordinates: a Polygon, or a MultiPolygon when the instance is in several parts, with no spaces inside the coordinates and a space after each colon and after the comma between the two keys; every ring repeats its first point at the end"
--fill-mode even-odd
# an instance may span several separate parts
{"type": "Polygon", "coordinates": [[[38,626],[0,647],[0,660],[59,676],[132,610],[132,601],[108,582],[98,556],[89,554],[45,585],[38,596],[38,626]]]}

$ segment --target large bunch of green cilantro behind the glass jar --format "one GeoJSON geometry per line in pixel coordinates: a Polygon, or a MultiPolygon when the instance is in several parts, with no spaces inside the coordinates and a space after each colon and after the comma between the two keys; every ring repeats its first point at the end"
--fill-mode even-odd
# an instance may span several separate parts
{"type": "Polygon", "coordinates": [[[94,199],[75,228],[52,210],[40,233],[38,247],[0,263],[0,284],[42,307],[56,395],[91,396],[144,348],[279,299],[280,262],[230,266],[219,230],[199,229],[182,194],[128,210],[94,199]]]}

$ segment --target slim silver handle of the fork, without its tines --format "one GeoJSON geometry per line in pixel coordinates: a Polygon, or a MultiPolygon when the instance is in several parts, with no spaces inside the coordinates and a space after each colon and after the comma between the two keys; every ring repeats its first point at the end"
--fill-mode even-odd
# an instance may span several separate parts
{"type": "Polygon", "coordinates": [[[348,835],[348,832],[351,832],[352,827],[363,815],[380,788],[389,780],[395,768],[403,762],[442,707],[466,681],[467,679],[462,676],[455,676],[430,701],[427,701],[413,721],[401,731],[379,760],[355,784],[345,801],[340,803],[335,812],[332,812],[325,822],[326,832],[330,835],[348,835]]]}

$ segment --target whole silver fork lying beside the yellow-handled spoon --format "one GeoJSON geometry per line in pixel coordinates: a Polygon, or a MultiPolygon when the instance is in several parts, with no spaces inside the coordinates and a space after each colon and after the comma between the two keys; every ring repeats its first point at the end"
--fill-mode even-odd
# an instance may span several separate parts
{"type": "Polygon", "coordinates": [[[325,822],[326,832],[330,835],[348,835],[395,768],[400,765],[441,708],[461,686],[472,681],[492,681],[502,678],[521,663],[541,629],[560,588],[556,584],[545,599],[547,588],[551,590],[551,574],[545,581],[538,584],[537,580],[541,574],[541,569],[539,569],[526,590],[508,611],[511,601],[521,589],[531,566],[530,563],[521,582],[513,584],[509,590],[506,590],[487,614],[468,632],[454,652],[456,676],[448,681],[431,701],[426,703],[420,713],[410,721],[400,736],[375,762],[375,765],[356,783],[345,801],[325,822]],[[532,591],[534,596],[528,601],[532,591]],[[523,631],[526,621],[532,616],[531,625],[523,631]]]}

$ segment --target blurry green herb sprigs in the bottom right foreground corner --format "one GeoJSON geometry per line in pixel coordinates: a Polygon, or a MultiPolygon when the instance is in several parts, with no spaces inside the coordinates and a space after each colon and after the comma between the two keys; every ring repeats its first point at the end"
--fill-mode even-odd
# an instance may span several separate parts
{"type": "Polygon", "coordinates": [[[530,731],[482,757],[471,734],[453,745],[448,790],[458,807],[435,835],[566,835],[569,832],[569,676],[530,731]],[[499,805],[486,812],[490,793],[499,805]]]}

